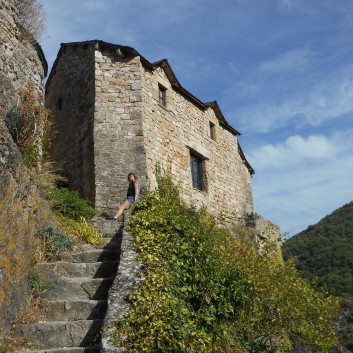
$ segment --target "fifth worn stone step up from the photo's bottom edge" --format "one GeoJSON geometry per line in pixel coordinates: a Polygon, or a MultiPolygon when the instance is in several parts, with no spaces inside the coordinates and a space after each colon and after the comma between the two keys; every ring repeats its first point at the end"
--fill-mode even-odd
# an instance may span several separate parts
{"type": "Polygon", "coordinates": [[[104,262],[67,262],[58,261],[54,263],[41,263],[37,265],[41,273],[52,272],[47,277],[52,277],[53,274],[63,277],[92,277],[92,278],[106,278],[112,277],[116,274],[118,268],[118,261],[104,261],[104,262]]]}

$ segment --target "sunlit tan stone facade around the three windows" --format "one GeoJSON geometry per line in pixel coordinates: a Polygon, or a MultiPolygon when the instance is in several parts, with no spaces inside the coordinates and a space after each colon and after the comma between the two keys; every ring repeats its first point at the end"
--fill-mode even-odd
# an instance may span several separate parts
{"type": "Polygon", "coordinates": [[[202,111],[171,87],[164,70],[143,75],[143,122],[148,180],[154,188],[156,165],[170,170],[191,205],[207,206],[224,224],[253,212],[251,176],[242,161],[237,136],[223,129],[212,108],[202,111]],[[158,103],[158,83],[167,88],[167,108],[158,103]],[[211,139],[209,122],[216,126],[211,139]],[[190,148],[206,157],[208,191],[192,187],[190,148]]]}

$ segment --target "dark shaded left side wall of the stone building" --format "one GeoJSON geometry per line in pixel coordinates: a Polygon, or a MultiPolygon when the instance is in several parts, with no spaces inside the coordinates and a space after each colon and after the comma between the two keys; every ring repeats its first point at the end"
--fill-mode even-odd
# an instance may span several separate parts
{"type": "Polygon", "coordinates": [[[45,97],[55,113],[52,155],[69,188],[94,203],[94,48],[71,45],[60,52],[45,97]]]}

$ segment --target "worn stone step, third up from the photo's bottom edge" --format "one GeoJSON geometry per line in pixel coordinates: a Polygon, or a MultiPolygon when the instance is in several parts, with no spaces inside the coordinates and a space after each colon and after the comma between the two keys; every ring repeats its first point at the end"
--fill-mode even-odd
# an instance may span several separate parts
{"type": "Polygon", "coordinates": [[[42,321],[77,321],[104,319],[106,300],[54,300],[47,301],[46,317],[42,321]]]}

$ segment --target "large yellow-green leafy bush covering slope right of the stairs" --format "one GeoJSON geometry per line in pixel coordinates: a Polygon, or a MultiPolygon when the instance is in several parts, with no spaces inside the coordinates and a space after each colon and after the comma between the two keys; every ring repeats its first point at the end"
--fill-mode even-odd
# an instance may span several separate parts
{"type": "Polygon", "coordinates": [[[315,292],[292,263],[234,239],[205,210],[189,209],[169,178],[129,223],[144,281],[118,320],[130,352],[328,352],[337,300],[315,292]]]}

